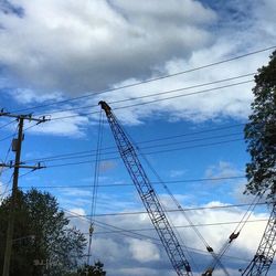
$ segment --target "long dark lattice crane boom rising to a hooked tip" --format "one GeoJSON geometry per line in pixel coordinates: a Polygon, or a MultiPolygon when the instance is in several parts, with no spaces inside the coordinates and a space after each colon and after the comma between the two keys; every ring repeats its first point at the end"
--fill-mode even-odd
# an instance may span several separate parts
{"type": "Polygon", "coordinates": [[[113,114],[110,106],[103,100],[98,104],[106,114],[120,157],[132,179],[160,241],[162,242],[172,267],[179,276],[192,276],[189,261],[166,216],[164,210],[158,200],[157,193],[152,188],[140,160],[138,159],[138,155],[136,153],[132,144],[113,114]]]}

